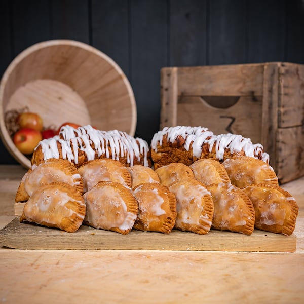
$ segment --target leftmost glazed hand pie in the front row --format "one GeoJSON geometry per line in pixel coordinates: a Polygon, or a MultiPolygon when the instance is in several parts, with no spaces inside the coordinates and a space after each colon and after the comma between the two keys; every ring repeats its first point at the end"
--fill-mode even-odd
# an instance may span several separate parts
{"type": "Polygon", "coordinates": [[[52,182],[37,188],[23,208],[20,222],[25,220],[66,232],[79,229],[86,205],[79,192],[64,182],[52,182]]]}

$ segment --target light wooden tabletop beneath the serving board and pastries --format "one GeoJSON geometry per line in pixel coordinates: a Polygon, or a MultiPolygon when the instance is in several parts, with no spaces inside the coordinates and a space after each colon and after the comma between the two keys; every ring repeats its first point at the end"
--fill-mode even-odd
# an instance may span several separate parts
{"type": "MultiPolygon", "coordinates": [[[[0,229],[25,172],[0,165],[0,229]]],[[[302,303],[304,177],[282,187],[299,205],[293,253],[2,247],[0,302],[302,303]]]]}

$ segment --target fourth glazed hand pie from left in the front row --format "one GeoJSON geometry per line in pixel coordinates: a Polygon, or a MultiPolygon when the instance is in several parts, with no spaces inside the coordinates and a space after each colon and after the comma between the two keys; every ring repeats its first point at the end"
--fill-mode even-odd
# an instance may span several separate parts
{"type": "Polygon", "coordinates": [[[196,179],[181,180],[170,186],[177,201],[175,228],[204,235],[210,231],[213,202],[205,186],[196,179]]]}

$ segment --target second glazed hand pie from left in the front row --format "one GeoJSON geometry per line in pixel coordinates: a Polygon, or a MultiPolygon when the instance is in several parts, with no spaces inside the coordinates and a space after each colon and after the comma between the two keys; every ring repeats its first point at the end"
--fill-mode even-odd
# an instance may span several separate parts
{"type": "Polygon", "coordinates": [[[101,181],[83,195],[87,212],[84,223],[98,229],[127,234],[137,217],[137,201],[118,182],[101,181]]]}

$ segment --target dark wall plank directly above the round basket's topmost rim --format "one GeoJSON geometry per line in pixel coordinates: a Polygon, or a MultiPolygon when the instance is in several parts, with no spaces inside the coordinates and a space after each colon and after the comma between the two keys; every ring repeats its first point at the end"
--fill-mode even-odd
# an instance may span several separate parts
{"type": "Polygon", "coordinates": [[[51,0],[52,38],[89,43],[88,8],[84,0],[51,0]]]}

